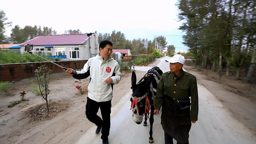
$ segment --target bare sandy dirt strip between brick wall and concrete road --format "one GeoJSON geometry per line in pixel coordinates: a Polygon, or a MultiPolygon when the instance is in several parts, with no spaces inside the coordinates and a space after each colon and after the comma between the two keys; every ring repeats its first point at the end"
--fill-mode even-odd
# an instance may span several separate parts
{"type": "MultiPolygon", "coordinates": [[[[145,72],[136,72],[140,79],[145,72]]],[[[114,85],[112,106],[126,94],[131,87],[131,73],[123,74],[119,84],[114,85]]],[[[45,111],[45,101],[31,90],[36,85],[35,79],[21,80],[10,86],[13,96],[0,96],[0,143],[4,144],[73,144],[86,131],[94,126],[85,113],[87,94],[78,95],[76,85],[85,88],[89,79],[76,80],[66,74],[54,76],[50,82],[50,115],[36,115],[45,111]],[[9,102],[20,99],[20,92],[26,91],[28,101],[7,108],[9,102]],[[34,118],[33,118],[34,116],[34,118]]],[[[100,116],[100,110],[98,112],[100,116]]]]}

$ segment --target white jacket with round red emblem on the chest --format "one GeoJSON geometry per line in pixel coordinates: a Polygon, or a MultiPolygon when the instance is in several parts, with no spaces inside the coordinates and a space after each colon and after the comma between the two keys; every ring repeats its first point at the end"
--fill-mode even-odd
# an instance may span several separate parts
{"type": "Polygon", "coordinates": [[[90,58],[81,71],[76,71],[74,78],[83,79],[90,76],[88,85],[88,97],[96,102],[106,102],[113,97],[113,84],[118,84],[121,80],[120,66],[114,58],[103,60],[97,54],[90,58]],[[107,78],[112,78],[112,84],[104,82],[107,78]]]}

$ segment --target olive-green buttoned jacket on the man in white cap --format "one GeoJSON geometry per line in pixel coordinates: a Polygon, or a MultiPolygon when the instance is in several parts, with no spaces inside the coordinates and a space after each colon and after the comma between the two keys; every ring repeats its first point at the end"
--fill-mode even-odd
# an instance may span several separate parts
{"type": "Polygon", "coordinates": [[[190,119],[192,121],[198,120],[198,90],[195,76],[183,70],[179,76],[175,76],[172,72],[165,72],[162,74],[156,90],[156,98],[154,99],[155,109],[160,110],[164,96],[168,96],[168,99],[172,100],[190,97],[190,119]]]}

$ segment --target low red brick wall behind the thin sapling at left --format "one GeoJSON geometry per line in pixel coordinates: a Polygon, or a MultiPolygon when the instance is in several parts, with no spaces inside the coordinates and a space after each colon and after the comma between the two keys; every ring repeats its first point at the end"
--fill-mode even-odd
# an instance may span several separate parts
{"type": "MultiPolygon", "coordinates": [[[[87,60],[73,60],[73,61],[58,61],[55,62],[60,66],[80,70],[84,67],[87,60]]],[[[34,77],[34,71],[41,65],[46,64],[48,68],[52,69],[52,73],[64,72],[63,69],[50,62],[32,62],[32,63],[18,63],[18,64],[0,64],[0,82],[18,81],[25,78],[34,77]]]]}

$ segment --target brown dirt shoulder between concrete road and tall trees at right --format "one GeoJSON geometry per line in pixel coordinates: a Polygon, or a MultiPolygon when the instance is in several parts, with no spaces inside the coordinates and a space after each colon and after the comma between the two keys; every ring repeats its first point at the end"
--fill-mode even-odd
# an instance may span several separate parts
{"type": "Polygon", "coordinates": [[[218,98],[233,118],[256,136],[256,86],[242,83],[235,78],[219,75],[211,70],[184,66],[184,69],[196,76],[199,84],[218,98]]]}

